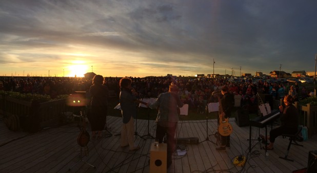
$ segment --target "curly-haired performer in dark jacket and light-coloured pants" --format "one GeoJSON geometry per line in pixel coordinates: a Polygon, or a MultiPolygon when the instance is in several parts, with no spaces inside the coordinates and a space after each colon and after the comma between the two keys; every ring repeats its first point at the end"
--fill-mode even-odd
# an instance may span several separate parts
{"type": "Polygon", "coordinates": [[[135,90],[131,87],[130,78],[120,79],[120,106],[122,113],[121,147],[129,146],[130,150],[138,150],[140,146],[134,145],[133,122],[136,118],[135,90]]]}

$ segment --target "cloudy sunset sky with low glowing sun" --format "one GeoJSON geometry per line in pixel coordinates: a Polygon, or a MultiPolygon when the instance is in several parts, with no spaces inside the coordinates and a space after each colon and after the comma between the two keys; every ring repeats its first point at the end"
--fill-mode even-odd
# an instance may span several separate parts
{"type": "Polygon", "coordinates": [[[316,53],[317,1],[0,1],[0,76],[307,72],[316,53]]]}

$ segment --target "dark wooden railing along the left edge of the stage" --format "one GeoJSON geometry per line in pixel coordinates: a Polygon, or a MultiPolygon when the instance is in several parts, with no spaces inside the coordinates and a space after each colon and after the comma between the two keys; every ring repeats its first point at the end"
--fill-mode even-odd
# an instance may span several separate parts
{"type": "Polygon", "coordinates": [[[21,127],[24,131],[30,131],[31,128],[60,124],[61,114],[66,109],[66,99],[38,103],[0,95],[0,113],[5,118],[14,117],[10,119],[10,123],[17,124],[14,128],[16,130],[21,127]]]}

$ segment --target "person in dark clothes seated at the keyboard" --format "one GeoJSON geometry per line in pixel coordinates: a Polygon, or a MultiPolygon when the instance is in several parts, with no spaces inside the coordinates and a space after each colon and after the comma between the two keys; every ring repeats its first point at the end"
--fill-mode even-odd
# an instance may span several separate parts
{"type": "MultiPolygon", "coordinates": [[[[280,116],[281,126],[274,128],[270,131],[270,136],[267,139],[270,140],[270,144],[267,145],[267,149],[273,149],[273,144],[275,138],[281,136],[282,134],[295,134],[298,131],[299,125],[299,115],[298,110],[292,104],[294,98],[291,95],[287,95],[284,97],[285,108],[280,105],[279,109],[282,113],[280,116]]],[[[264,136],[261,135],[262,140],[264,140],[264,136]]],[[[265,146],[263,146],[265,149],[265,146]]]]}

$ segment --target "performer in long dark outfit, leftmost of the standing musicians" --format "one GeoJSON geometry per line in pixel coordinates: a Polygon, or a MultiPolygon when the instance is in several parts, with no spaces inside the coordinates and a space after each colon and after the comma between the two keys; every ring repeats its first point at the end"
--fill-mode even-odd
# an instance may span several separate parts
{"type": "Polygon", "coordinates": [[[91,95],[91,124],[92,139],[101,139],[102,131],[105,128],[108,107],[108,88],[103,85],[104,77],[95,75],[92,79],[89,93],[91,95]]]}

